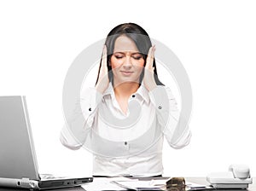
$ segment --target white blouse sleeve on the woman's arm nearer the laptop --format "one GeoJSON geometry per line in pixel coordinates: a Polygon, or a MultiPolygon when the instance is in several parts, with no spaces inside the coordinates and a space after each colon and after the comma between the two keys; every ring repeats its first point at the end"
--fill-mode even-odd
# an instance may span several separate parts
{"type": "Polygon", "coordinates": [[[98,104],[102,101],[102,94],[95,88],[85,89],[77,101],[74,111],[63,125],[60,135],[61,143],[76,150],[83,146],[97,113],[98,104]]]}

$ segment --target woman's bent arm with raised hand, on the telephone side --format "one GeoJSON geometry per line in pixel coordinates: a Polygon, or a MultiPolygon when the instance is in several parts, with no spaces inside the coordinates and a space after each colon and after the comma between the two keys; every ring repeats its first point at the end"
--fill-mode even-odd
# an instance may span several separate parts
{"type": "Polygon", "coordinates": [[[166,140],[172,148],[183,148],[189,144],[191,133],[188,123],[183,116],[179,116],[177,102],[172,91],[166,86],[157,85],[154,81],[154,51],[155,46],[148,50],[143,84],[148,89],[150,100],[153,102],[158,123],[166,140]],[[182,124],[182,125],[180,125],[182,124]]]}

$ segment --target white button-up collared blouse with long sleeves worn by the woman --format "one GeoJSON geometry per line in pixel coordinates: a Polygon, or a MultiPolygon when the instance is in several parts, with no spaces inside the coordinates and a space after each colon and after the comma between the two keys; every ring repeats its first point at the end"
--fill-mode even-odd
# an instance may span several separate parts
{"type": "Polygon", "coordinates": [[[148,91],[141,85],[129,98],[126,114],[111,83],[103,95],[89,88],[81,97],[60,138],[67,148],[84,147],[93,153],[93,176],[161,175],[164,136],[172,148],[189,144],[189,126],[182,134],[175,133],[179,111],[166,86],[148,91]]]}

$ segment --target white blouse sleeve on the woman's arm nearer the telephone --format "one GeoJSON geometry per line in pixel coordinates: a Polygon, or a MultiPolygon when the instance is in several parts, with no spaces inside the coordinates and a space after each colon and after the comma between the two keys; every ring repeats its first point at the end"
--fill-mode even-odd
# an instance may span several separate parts
{"type": "Polygon", "coordinates": [[[158,85],[154,90],[149,91],[150,100],[153,101],[156,109],[156,117],[160,124],[166,140],[172,148],[183,148],[190,142],[191,131],[189,125],[178,126],[178,120],[182,118],[177,109],[177,101],[172,95],[172,90],[166,86],[158,85]],[[183,128],[183,130],[176,130],[183,128]]]}

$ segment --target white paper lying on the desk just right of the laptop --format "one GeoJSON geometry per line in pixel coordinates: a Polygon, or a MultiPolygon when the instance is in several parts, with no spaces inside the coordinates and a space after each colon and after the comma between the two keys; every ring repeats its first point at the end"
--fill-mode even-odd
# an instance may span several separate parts
{"type": "Polygon", "coordinates": [[[94,177],[93,182],[86,183],[82,185],[86,191],[100,191],[100,190],[127,190],[121,188],[116,184],[113,184],[113,181],[133,181],[126,177],[94,177]]]}

